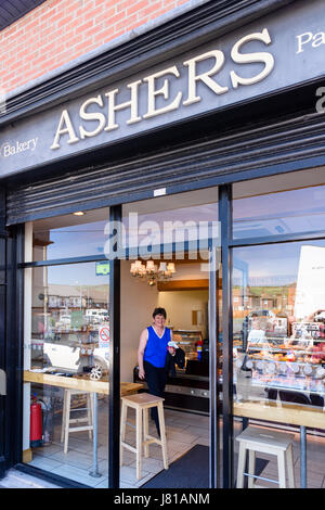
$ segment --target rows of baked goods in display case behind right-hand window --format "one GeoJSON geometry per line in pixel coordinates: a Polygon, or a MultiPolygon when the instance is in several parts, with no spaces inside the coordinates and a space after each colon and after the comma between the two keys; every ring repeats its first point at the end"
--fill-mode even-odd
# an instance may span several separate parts
{"type": "MultiPolygon", "coordinates": [[[[311,404],[324,406],[325,394],[325,327],[322,320],[291,322],[287,330],[250,330],[247,339],[245,370],[250,371],[251,386],[264,387],[271,398],[278,391],[282,399],[290,400],[303,393],[311,404]],[[291,393],[290,393],[291,392],[291,393]],[[291,395],[291,397],[290,397],[291,395]],[[285,396],[285,397],[284,397],[285,396]]],[[[283,328],[285,324],[278,324],[283,328]]],[[[243,368],[243,357],[235,359],[243,368]]]]}

